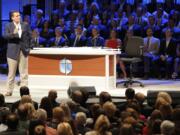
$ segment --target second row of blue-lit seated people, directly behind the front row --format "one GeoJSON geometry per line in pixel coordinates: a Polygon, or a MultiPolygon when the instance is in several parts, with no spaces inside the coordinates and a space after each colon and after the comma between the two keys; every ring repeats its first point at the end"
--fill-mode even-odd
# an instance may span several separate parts
{"type": "MultiPolygon", "coordinates": [[[[142,13],[142,9],[138,8],[137,14],[142,13]]],[[[65,21],[64,18],[60,18],[58,20],[58,23],[56,26],[52,28],[50,25],[50,21],[44,20],[41,27],[38,27],[38,25],[33,26],[38,27],[40,30],[40,35],[45,38],[46,40],[49,40],[51,37],[54,36],[55,27],[59,26],[62,28],[64,35],[69,37],[71,33],[74,33],[74,29],[77,27],[78,24],[81,24],[83,26],[83,34],[87,37],[91,35],[92,28],[94,26],[99,28],[100,34],[103,38],[109,37],[109,32],[111,29],[117,29],[118,31],[118,37],[123,40],[125,37],[125,33],[127,30],[132,29],[134,32],[134,35],[145,37],[146,36],[146,30],[148,27],[152,27],[154,31],[154,36],[157,38],[163,38],[163,35],[166,31],[166,29],[170,28],[173,30],[174,37],[179,38],[180,35],[180,29],[179,29],[179,20],[177,19],[178,12],[173,11],[172,15],[170,17],[165,18],[163,15],[163,12],[160,10],[158,13],[160,14],[160,21],[156,19],[156,16],[149,15],[146,19],[139,19],[137,15],[129,15],[129,17],[124,17],[123,11],[119,13],[119,16],[117,18],[110,18],[108,20],[107,24],[102,24],[101,19],[99,16],[93,16],[91,23],[88,26],[85,26],[85,20],[83,18],[80,18],[76,21],[73,26],[69,26],[68,22],[65,21]],[[160,13],[159,13],[160,12],[160,13]],[[145,21],[146,20],[146,21],[145,21]],[[160,23],[160,24],[158,24],[160,23]]],[[[145,17],[142,17],[145,18],[145,17]]],[[[72,24],[71,24],[72,25],[72,24]]]]}

